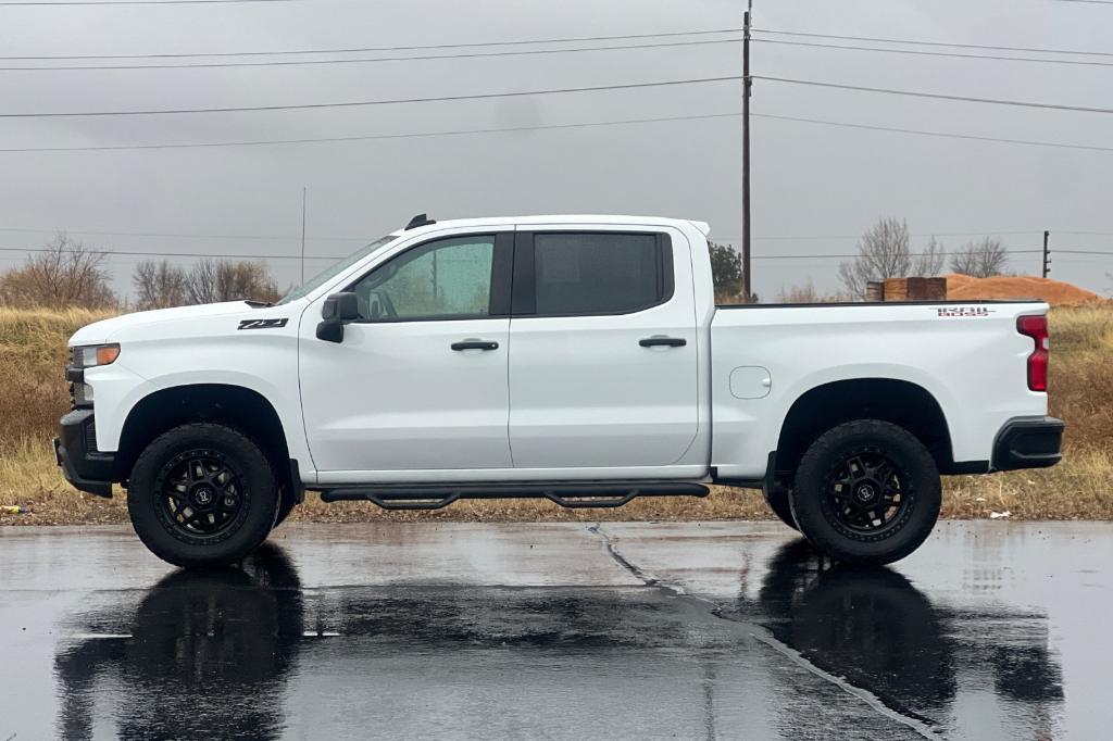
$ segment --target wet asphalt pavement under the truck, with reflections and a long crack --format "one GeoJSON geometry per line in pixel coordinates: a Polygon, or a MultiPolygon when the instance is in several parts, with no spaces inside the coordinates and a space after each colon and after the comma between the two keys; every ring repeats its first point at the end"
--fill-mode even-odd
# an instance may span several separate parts
{"type": "Polygon", "coordinates": [[[943,523],[892,569],[781,525],[287,525],[176,571],[0,530],[0,741],[1096,739],[1109,523],[943,523]]]}

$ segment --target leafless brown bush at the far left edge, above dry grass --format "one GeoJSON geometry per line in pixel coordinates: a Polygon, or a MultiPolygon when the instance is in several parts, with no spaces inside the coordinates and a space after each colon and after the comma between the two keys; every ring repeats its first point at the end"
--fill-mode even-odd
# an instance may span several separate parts
{"type": "Polygon", "coordinates": [[[116,306],[104,261],[105,253],[58,233],[23,267],[0,275],[0,302],[26,308],[116,306]]]}

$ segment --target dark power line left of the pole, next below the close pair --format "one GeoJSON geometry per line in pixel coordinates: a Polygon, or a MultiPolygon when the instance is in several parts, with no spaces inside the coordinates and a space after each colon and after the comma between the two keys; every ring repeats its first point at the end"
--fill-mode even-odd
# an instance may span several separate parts
{"type": "Polygon", "coordinates": [[[600,90],[631,90],[634,88],[661,88],[677,85],[698,85],[705,82],[726,82],[740,80],[741,75],[723,77],[701,77],[682,80],[659,80],[656,82],[626,82],[622,85],[597,85],[582,88],[556,88],[546,90],[512,90],[508,92],[480,92],[462,96],[442,96],[429,98],[386,98],[382,100],[346,100],[327,103],[287,103],[277,106],[228,106],[224,108],[167,108],[150,110],[95,110],[95,111],[43,111],[0,113],[0,118],[85,118],[104,116],[166,116],[176,113],[232,113],[272,110],[311,110],[321,108],[355,108],[365,106],[393,106],[397,103],[443,102],[455,100],[489,100],[491,98],[519,98],[523,96],[563,95],[569,92],[597,92],[600,90]]]}

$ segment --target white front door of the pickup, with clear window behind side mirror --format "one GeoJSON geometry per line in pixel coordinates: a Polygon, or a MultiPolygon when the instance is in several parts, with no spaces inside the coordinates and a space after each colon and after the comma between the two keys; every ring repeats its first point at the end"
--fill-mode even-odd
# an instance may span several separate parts
{"type": "Polygon", "coordinates": [[[348,288],[361,320],[345,326],[342,343],[317,339],[319,306],[306,310],[302,401],[324,483],[512,465],[512,238],[451,236],[393,256],[348,288]]]}

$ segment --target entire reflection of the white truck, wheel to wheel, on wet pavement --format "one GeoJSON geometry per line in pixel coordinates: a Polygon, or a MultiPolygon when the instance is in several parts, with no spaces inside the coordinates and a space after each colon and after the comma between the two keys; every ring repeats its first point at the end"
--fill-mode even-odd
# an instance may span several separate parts
{"type": "Polygon", "coordinates": [[[111,733],[121,738],[267,739],[315,728],[343,735],[372,727],[501,734],[513,727],[461,714],[530,696],[543,704],[516,712],[555,735],[669,734],[671,718],[680,735],[700,728],[708,737],[828,738],[837,723],[843,738],[915,738],[954,730],[953,714],[969,712],[956,709],[964,688],[991,685],[1026,732],[1046,738],[1063,702],[1041,614],[936,605],[896,571],[843,569],[802,541],[768,560],[756,600],[717,609],[637,585],[303,589],[290,554],[267,545],[240,569],[175,572],[126,592],[72,615],[69,629],[75,640],[56,655],[56,732],[66,738],[93,735],[98,707],[112,708],[111,733]],[[787,662],[755,640],[761,635],[804,661],[787,662]],[[542,685],[535,694],[531,683],[542,685]],[[296,702],[295,684],[315,700],[296,702]],[[577,685],[565,701],[600,695],[585,725],[543,696],[577,685]],[[450,702],[441,718],[431,708],[453,688],[474,707],[450,702]],[[429,698],[415,701],[423,689],[429,698]],[[768,718],[742,712],[755,693],[777,700],[768,718]],[[639,727],[634,709],[656,724],[639,727]]]}

